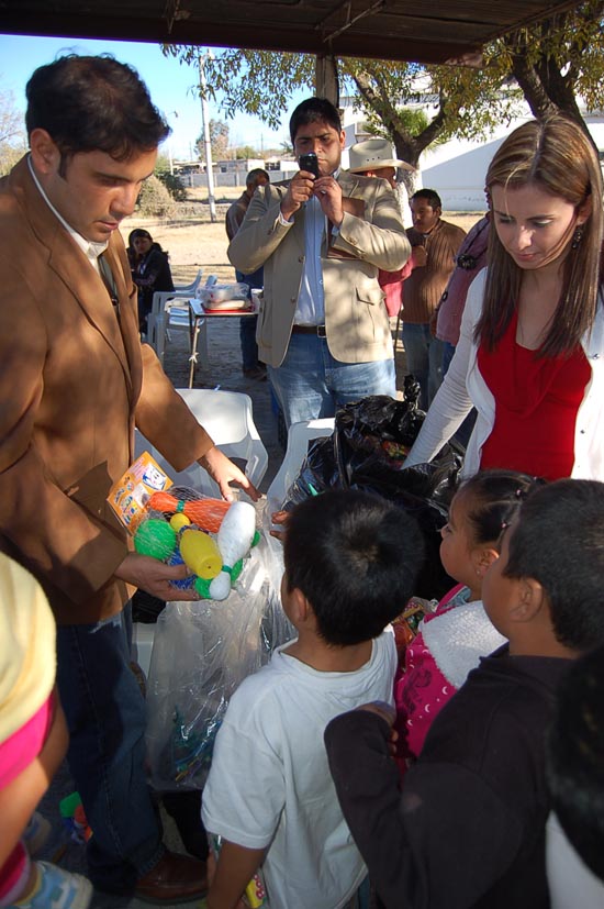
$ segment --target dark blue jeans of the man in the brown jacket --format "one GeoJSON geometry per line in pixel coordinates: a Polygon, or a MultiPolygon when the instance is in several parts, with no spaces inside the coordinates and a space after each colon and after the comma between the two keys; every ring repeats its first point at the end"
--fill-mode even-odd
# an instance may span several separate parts
{"type": "Polygon", "coordinates": [[[127,890],[161,858],[161,828],[145,774],[145,700],[130,668],[130,607],[57,629],[57,681],[70,734],[67,760],[87,820],[89,876],[127,890]]]}

